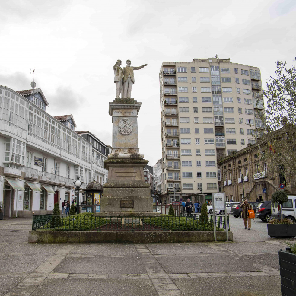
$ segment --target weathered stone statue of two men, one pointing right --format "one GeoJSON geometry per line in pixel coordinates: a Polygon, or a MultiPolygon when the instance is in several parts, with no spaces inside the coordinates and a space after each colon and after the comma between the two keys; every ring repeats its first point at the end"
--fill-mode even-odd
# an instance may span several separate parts
{"type": "Polygon", "coordinates": [[[116,85],[116,98],[130,98],[132,93],[132,85],[135,83],[134,70],[140,70],[147,66],[147,64],[133,67],[131,61],[126,61],[126,67],[121,68],[121,60],[117,60],[113,66],[114,83],[116,85]]]}

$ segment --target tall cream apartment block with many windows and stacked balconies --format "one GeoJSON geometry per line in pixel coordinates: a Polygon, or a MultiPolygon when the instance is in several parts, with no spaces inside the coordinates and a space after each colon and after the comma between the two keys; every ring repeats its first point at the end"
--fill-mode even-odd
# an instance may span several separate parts
{"type": "Polygon", "coordinates": [[[222,191],[219,158],[260,137],[260,69],[230,59],[193,59],[163,62],[159,78],[161,197],[167,203],[211,199],[222,191]]]}

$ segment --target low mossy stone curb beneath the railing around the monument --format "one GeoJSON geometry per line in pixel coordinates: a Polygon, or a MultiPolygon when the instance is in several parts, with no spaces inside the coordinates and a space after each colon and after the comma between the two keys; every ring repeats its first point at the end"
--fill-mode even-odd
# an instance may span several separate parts
{"type": "MultiPolygon", "coordinates": [[[[230,241],[233,234],[228,231],[230,241]]],[[[226,232],[217,231],[217,241],[226,232]]],[[[29,231],[29,243],[196,243],[214,241],[213,231],[29,231]]]]}

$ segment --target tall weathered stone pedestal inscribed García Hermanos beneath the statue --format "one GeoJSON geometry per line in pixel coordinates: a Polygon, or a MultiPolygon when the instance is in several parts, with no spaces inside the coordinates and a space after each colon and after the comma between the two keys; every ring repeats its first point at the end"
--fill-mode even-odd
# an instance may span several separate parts
{"type": "Polygon", "coordinates": [[[144,170],[148,161],[139,153],[138,112],[141,103],[134,99],[115,99],[109,103],[112,116],[112,151],[104,167],[108,182],[103,185],[101,216],[152,216],[153,198],[145,183],[144,170]]]}

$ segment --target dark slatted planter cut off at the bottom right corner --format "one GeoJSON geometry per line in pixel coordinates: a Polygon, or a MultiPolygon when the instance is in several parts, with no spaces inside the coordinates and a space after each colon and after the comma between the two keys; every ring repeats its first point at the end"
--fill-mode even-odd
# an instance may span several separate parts
{"type": "Polygon", "coordinates": [[[296,254],[278,251],[282,296],[294,296],[296,291],[296,254]]]}

